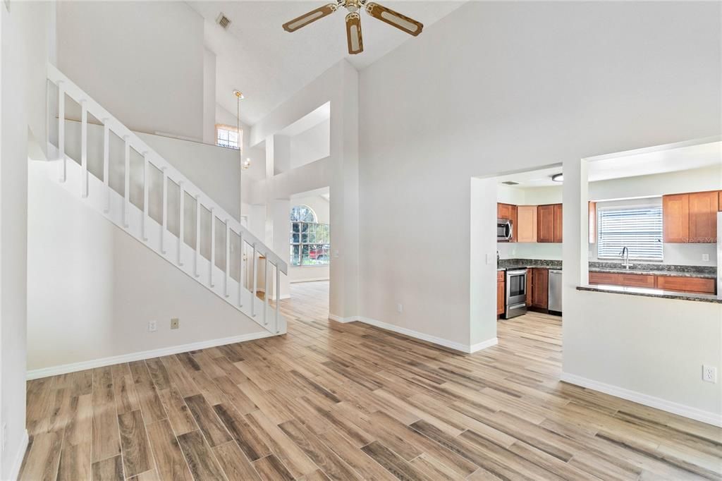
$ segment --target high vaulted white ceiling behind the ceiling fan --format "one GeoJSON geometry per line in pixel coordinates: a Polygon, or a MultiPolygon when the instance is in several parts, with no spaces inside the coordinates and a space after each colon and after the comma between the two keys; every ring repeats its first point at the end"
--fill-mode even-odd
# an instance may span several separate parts
{"type": "MultiPolygon", "coordinates": [[[[362,13],[364,51],[349,56],[344,11],[297,32],[281,25],[316,9],[319,1],[189,1],[205,19],[206,46],[217,55],[216,97],[235,113],[234,89],[241,90],[243,122],[253,125],[293,93],[342,58],[363,69],[393,48],[414,38],[362,13]],[[219,12],[230,18],[229,30],[216,24],[219,12]]],[[[422,22],[425,27],[451,13],[461,1],[383,1],[383,5],[422,22]]],[[[421,35],[424,35],[423,32],[421,35]]]]}

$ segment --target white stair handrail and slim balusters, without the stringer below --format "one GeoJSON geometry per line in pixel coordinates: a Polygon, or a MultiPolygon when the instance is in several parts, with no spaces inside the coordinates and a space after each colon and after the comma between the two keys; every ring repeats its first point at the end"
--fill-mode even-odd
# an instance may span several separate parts
{"type": "MultiPolygon", "coordinates": [[[[171,237],[175,237],[173,234],[170,233],[168,230],[168,179],[173,181],[176,185],[178,185],[180,189],[180,229],[178,231],[178,256],[176,259],[172,260],[175,264],[178,265],[178,267],[184,267],[186,266],[186,261],[188,261],[187,256],[184,256],[184,202],[185,202],[185,194],[187,193],[190,195],[193,199],[196,200],[196,242],[195,242],[195,249],[193,252],[193,277],[196,278],[201,283],[206,284],[205,280],[201,280],[201,208],[205,208],[210,212],[211,215],[211,227],[210,227],[210,238],[211,238],[211,254],[210,254],[210,268],[208,269],[208,278],[207,278],[207,286],[211,288],[211,290],[214,290],[214,287],[216,286],[216,279],[214,278],[214,267],[215,267],[215,259],[216,259],[216,220],[219,220],[222,222],[222,224],[225,225],[225,282],[224,287],[222,291],[222,297],[230,298],[230,235],[235,234],[238,236],[240,240],[240,265],[239,265],[239,277],[238,277],[238,301],[236,302],[236,308],[238,308],[240,311],[245,311],[243,306],[243,290],[245,287],[243,287],[244,284],[244,274],[246,273],[246,269],[248,268],[245,264],[248,263],[246,261],[245,256],[243,253],[245,252],[245,246],[248,245],[253,250],[253,256],[251,259],[251,278],[252,281],[252,288],[251,288],[251,306],[248,311],[249,317],[253,319],[253,321],[256,321],[256,323],[260,324],[261,326],[264,326],[265,329],[268,329],[270,332],[277,334],[279,332],[279,298],[280,298],[280,275],[281,274],[287,274],[287,264],[277,256],[271,249],[266,246],[263,242],[261,242],[258,238],[256,238],[255,235],[253,235],[250,231],[248,231],[247,228],[243,227],[243,225],[240,224],[237,220],[235,220],[231,215],[229,215],[225,209],[219,206],[216,202],[214,202],[213,199],[211,199],[209,196],[204,194],[203,191],[199,187],[197,187],[191,180],[186,178],[183,173],[178,171],[176,168],[173,167],[173,165],[170,164],[165,158],[163,158],[161,155],[159,155],[157,152],[155,152],[154,149],[149,147],[148,144],[143,142],[142,139],[140,139],[139,136],[134,134],[133,131],[128,129],[126,126],[123,125],[120,121],[118,121],[117,118],[113,117],[108,110],[105,110],[103,106],[101,106],[99,103],[97,103],[95,100],[90,97],[90,95],[87,95],[83,90],[80,89],[74,82],[72,82],[68,77],[66,77],[61,71],[59,71],[55,66],[52,64],[48,64],[48,80],[52,82],[53,84],[56,84],[58,87],[58,159],[59,159],[59,172],[58,172],[58,180],[61,183],[64,183],[68,176],[68,160],[69,157],[66,156],[66,146],[65,146],[65,95],[70,97],[72,100],[77,102],[80,105],[81,108],[81,120],[80,120],[80,168],[82,170],[81,172],[81,182],[80,182],[80,195],[82,198],[86,199],[89,195],[89,178],[88,178],[88,162],[87,162],[87,151],[88,151],[88,139],[87,139],[87,132],[88,132],[88,113],[92,114],[95,118],[99,119],[101,123],[103,123],[103,188],[105,189],[105,207],[103,208],[103,212],[106,215],[110,214],[111,209],[111,196],[113,196],[113,189],[109,185],[109,178],[110,178],[110,132],[112,131],[113,134],[116,134],[119,138],[123,139],[123,152],[124,152],[124,190],[123,190],[123,199],[122,199],[122,227],[126,230],[129,230],[131,222],[129,221],[129,215],[131,212],[131,209],[134,208],[134,206],[131,206],[131,200],[130,200],[130,183],[131,183],[131,166],[130,166],[130,152],[131,148],[134,149],[136,152],[139,152],[140,155],[143,157],[144,161],[144,176],[143,176],[143,212],[142,212],[142,225],[141,225],[141,233],[140,238],[142,241],[147,243],[147,245],[154,249],[155,251],[160,251],[160,254],[167,258],[168,251],[166,249],[168,243],[167,239],[170,239],[171,237]],[[151,217],[149,216],[149,169],[151,167],[155,167],[158,170],[162,172],[162,222],[161,222],[161,229],[160,229],[160,246],[151,246],[149,245],[149,235],[148,235],[148,229],[149,229],[149,222],[152,222],[151,217]],[[262,309],[262,317],[261,320],[256,319],[257,318],[257,312],[256,312],[256,293],[258,292],[258,284],[256,282],[256,277],[258,274],[258,256],[264,257],[264,289],[265,289],[265,295],[264,295],[264,301],[262,309]],[[270,267],[270,269],[269,269],[270,267]],[[275,277],[275,293],[276,293],[276,303],[274,308],[274,326],[273,328],[269,328],[269,319],[268,319],[268,313],[269,311],[269,299],[271,292],[271,289],[269,289],[269,274],[273,274],[275,270],[275,275],[272,277],[275,277]]],[[[72,160],[71,160],[72,162],[72,160]]],[[[168,259],[171,261],[170,259],[168,259]]],[[[215,292],[215,290],[214,290],[215,292]]],[[[235,297],[235,296],[234,296],[235,297]]]]}

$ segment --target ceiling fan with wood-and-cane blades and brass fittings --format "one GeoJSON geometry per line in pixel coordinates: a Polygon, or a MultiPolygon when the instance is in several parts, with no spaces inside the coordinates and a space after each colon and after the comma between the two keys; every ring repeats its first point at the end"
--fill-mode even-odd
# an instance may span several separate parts
{"type": "Polygon", "coordinates": [[[367,14],[371,17],[374,17],[381,22],[386,22],[388,25],[392,25],[409,35],[414,35],[414,37],[419,35],[421,30],[424,28],[424,25],[421,22],[417,22],[416,20],[406,17],[406,15],[402,15],[399,12],[394,12],[392,9],[386,8],[386,6],[379,5],[373,1],[336,0],[335,4],[319,6],[315,10],[311,10],[300,17],[296,17],[290,22],[284,23],[283,30],[286,30],[287,32],[295,32],[312,22],[316,22],[316,20],[336,12],[339,7],[344,7],[349,11],[346,15],[346,37],[349,44],[349,53],[352,55],[363,51],[361,16],[359,14],[361,9],[365,9],[367,14]]]}

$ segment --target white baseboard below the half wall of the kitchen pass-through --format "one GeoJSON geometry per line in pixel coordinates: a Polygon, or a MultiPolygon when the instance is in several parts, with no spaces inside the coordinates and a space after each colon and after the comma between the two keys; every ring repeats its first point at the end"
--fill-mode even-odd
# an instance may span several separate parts
{"type": "Polygon", "coordinates": [[[648,407],[654,407],[658,410],[671,412],[672,414],[689,417],[690,419],[701,421],[702,423],[722,427],[722,415],[718,415],[714,412],[700,410],[696,407],[679,404],[678,402],[667,401],[666,399],[661,399],[660,397],[649,396],[648,394],[631,391],[630,389],[625,389],[619,386],[612,386],[612,384],[604,384],[599,381],[593,381],[592,379],[583,378],[575,374],[562,373],[560,378],[565,383],[593,389],[594,391],[603,392],[604,394],[609,394],[614,397],[627,399],[627,401],[636,402],[648,407]]]}

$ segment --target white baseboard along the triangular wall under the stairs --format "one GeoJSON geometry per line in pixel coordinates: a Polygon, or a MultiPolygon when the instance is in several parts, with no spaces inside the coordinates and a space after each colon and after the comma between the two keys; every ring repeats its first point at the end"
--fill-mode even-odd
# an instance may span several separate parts
{"type": "Polygon", "coordinates": [[[33,369],[32,371],[27,371],[26,378],[28,380],[47,378],[48,376],[57,376],[58,374],[74,373],[77,371],[84,371],[86,369],[92,368],[102,368],[106,365],[129,363],[136,360],[158,358],[160,356],[178,354],[179,352],[207,349],[208,347],[234,344],[235,342],[253,341],[256,339],[264,339],[264,337],[272,336],[274,336],[274,334],[271,334],[270,332],[252,332],[251,334],[241,334],[240,336],[222,337],[220,339],[209,339],[208,341],[191,342],[191,344],[161,347],[160,349],[154,349],[149,351],[131,352],[129,354],[111,356],[110,358],[92,359],[87,361],[81,361],[79,363],[51,366],[50,368],[33,369]]]}

